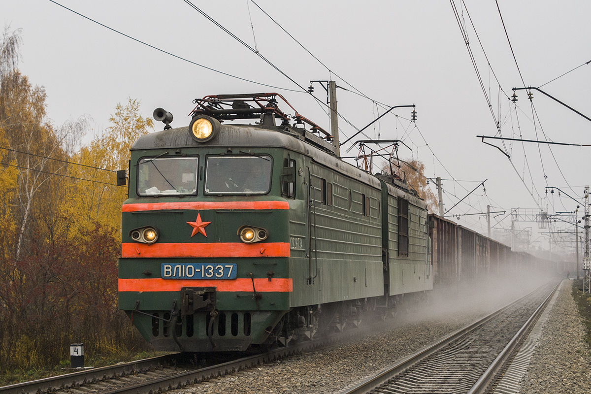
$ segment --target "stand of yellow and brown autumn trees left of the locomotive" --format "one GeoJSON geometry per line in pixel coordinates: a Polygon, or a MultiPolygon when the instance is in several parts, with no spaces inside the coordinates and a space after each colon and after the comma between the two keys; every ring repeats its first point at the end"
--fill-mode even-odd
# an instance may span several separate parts
{"type": "Polygon", "coordinates": [[[44,88],[16,67],[19,44],[18,31],[0,43],[0,373],[53,367],[72,342],[89,354],[143,343],[117,310],[126,188],[114,171],[151,120],[130,99],[76,149],[85,120],[47,121],[44,88]]]}

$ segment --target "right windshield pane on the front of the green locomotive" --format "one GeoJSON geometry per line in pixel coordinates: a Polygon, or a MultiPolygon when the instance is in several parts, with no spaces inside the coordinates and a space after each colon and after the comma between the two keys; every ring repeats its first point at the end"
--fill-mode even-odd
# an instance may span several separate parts
{"type": "Polygon", "coordinates": [[[206,194],[267,194],[273,162],[269,155],[208,156],[206,194]]]}

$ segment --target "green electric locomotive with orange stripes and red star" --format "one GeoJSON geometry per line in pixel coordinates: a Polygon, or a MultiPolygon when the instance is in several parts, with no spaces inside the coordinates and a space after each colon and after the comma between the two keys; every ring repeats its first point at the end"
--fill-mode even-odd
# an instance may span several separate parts
{"type": "Polygon", "coordinates": [[[310,340],[433,288],[424,201],[277,98],[206,96],[180,128],[159,108],[131,148],[119,308],[158,350],[310,340]]]}

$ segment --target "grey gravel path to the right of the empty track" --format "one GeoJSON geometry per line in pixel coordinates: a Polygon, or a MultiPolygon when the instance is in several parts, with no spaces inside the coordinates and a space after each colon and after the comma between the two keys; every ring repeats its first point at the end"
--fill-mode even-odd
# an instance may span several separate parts
{"type": "Polygon", "coordinates": [[[571,281],[560,285],[535,348],[522,394],[591,393],[591,351],[584,342],[584,325],[571,292],[571,281]]]}

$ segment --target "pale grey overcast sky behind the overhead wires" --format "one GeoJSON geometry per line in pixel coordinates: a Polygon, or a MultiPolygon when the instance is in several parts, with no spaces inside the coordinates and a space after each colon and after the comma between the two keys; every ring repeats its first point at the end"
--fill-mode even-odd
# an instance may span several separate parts
{"type": "MultiPolygon", "coordinates": [[[[486,212],[491,205],[492,211],[506,211],[492,220],[494,229],[510,229],[509,217],[496,222],[517,207],[549,214],[575,209],[575,201],[545,194],[545,187],[580,200],[583,186],[591,183],[591,147],[486,140],[509,160],[476,138],[591,143],[591,123],[542,93],[534,91],[530,103],[518,91],[517,106],[508,99],[513,87],[540,87],[591,118],[588,0],[193,1],[297,84],[183,0],[57,2],[161,50],[48,0],[0,0],[4,27],[21,29],[22,73],[46,88],[48,117],[58,126],[90,118],[87,138],[106,128],[116,104],[128,97],[141,100],[144,116],[163,107],[173,113],[173,126],[184,126],[193,99],[225,93],[281,93],[299,113],[329,129],[323,106],[298,84],[332,78],[348,89],[337,91],[339,113],[358,129],[384,107],[416,105],[416,125],[410,109],[396,109],[366,132],[410,146],[401,146],[400,157],[418,158],[427,177],[444,179],[446,209],[488,179],[486,191],[480,186],[447,214],[486,212]]],[[[319,85],[314,94],[326,100],[319,85]]],[[[339,121],[342,141],[356,132],[346,121],[339,121]]],[[[486,234],[485,216],[453,220],[486,234]]],[[[534,246],[548,248],[548,236],[540,233],[548,230],[530,222],[514,226],[531,230],[534,246]]],[[[557,223],[557,229],[573,226],[557,223]]],[[[567,245],[559,242],[567,236],[557,235],[553,250],[567,245]]]]}

